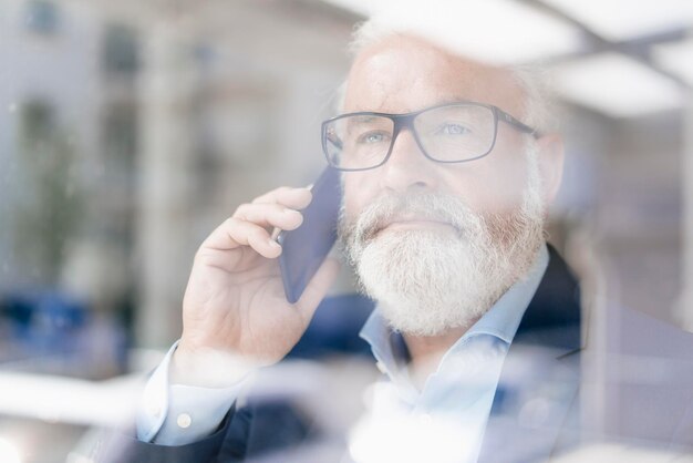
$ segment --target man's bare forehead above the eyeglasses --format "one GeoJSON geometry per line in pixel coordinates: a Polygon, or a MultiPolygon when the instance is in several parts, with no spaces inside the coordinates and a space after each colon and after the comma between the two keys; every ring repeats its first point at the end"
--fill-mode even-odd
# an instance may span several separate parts
{"type": "Polygon", "coordinates": [[[403,113],[459,100],[519,114],[523,92],[507,70],[464,59],[423,39],[391,35],[363,49],[346,85],[344,110],[403,113]]]}

